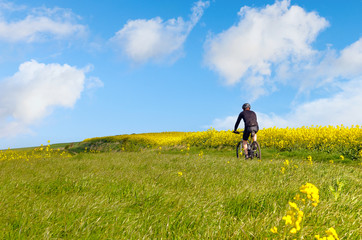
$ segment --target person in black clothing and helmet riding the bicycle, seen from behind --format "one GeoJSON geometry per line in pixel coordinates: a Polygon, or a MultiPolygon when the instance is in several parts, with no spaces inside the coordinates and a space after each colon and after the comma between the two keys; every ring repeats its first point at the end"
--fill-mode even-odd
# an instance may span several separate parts
{"type": "MultiPolygon", "coordinates": [[[[248,138],[250,134],[254,131],[257,133],[259,131],[259,124],[255,112],[250,110],[251,106],[249,103],[243,104],[243,111],[239,114],[238,119],[236,120],[234,133],[238,133],[237,129],[239,127],[241,119],[244,120],[244,133],[243,133],[243,148],[245,151],[245,159],[248,159],[248,138]]],[[[253,141],[256,141],[256,134],[253,136],[253,141]]]]}

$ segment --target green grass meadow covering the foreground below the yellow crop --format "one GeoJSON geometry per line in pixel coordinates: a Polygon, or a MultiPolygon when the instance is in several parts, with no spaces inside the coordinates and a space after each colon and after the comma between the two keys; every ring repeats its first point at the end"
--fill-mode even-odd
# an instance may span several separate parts
{"type": "Polygon", "coordinates": [[[280,239],[270,228],[283,228],[288,201],[306,182],[321,202],[306,209],[297,237],[334,227],[340,239],[361,239],[360,165],[310,165],[301,154],[282,174],[289,156],[263,155],[148,149],[2,161],[0,239],[280,239]],[[345,186],[335,200],[337,180],[345,186]]]}

